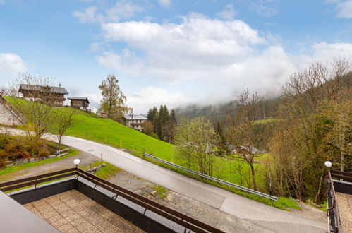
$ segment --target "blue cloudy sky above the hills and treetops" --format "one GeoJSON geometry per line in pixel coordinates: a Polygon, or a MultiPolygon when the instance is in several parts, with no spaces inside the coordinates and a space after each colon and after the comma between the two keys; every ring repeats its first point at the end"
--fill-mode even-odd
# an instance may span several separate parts
{"type": "Polygon", "coordinates": [[[352,59],[352,0],[0,0],[0,86],[49,77],[93,110],[108,74],[145,114],[277,95],[338,56],[352,59]]]}

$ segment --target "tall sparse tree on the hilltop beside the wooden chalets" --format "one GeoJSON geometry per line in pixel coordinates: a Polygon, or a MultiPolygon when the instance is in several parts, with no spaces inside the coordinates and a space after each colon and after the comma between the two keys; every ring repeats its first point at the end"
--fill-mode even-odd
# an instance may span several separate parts
{"type": "Polygon", "coordinates": [[[118,83],[119,80],[114,74],[109,74],[106,79],[102,80],[99,89],[103,98],[100,101],[98,112],[107,112],[108,118],[123,122],[124,115],[133,112],[133,109],[126,106],[126,96],[123,95],[118,83]]]}

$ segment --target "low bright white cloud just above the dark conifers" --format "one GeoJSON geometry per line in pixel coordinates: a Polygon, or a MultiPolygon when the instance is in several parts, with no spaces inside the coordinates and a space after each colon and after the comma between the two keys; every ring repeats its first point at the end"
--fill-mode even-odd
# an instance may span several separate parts
{"type": "Polygon", "coordinates": [[[128,95],[127,105],[133,107],[135,113],[145,113],[153,106],[166,104],[169,109],[187,102],[181,92],[172,92],[163,88],[147,87],[142,88],[138,95],[128,95]]]}

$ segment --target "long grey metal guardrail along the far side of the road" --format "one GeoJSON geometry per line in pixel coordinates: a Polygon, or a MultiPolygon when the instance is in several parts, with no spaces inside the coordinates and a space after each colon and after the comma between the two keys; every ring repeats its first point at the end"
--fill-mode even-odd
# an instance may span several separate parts
{"type": "Polygon", "coordinates": [[[182,166],[180,166],[180,165],[175,165],[175,164],[172,163],[172,162],[169,162],[169,161],[166,161],[166,160],[162,160],[162,159],[160,159],[159,157],[155,157],[154,155],[149,155],[149,154],[147,154],[147,153],[143,153],[143,156],[151,157],[151,158],[153,158],[154,160],[158,160],[159,162],[164,162],[165,164],[170,165],[170,166],[172,166],[172,167],[176,167],[176,168],[178,168],[178,169],[182,169],[183,171],[190,172],[190,173],[192,173],[192,174],[195,174],[195,175],[198,175],[198,176],[200,176],[200,177],[204,177],[204,178],[210,179],[210,180],[212,180],[212,181],[217,181],[218,183],[221,183],[221,184],[226,184],[226,185],[228,185],[228,186],[231,186],[231,187],[236,188],[236,189],[240,189],[240,190],[242,190],[242,191],[246,191],[246,192],[248,192],[248,193],[253,193],[253,194],[257,195],[257,196],[262,196],[263,198],[268,198],[268,199],[270,199],[270,200],[272,200],[272,201],[277,201],[277,200],[278,200],[277,196],[271,196],[271,195],[269,195],[269,194],[267,194],[267,193],[262,193],[262,192],[260,192],[260,191],[255,191],[255,190],[253,190],[253,189],[248,189],[248,188],[243,187],[243,186],[240,186],[240,185],[238,185],[238,184],[230,183],[229,181],[224,181],[224,180],[222,180],[222,179],[218,179],[218,178],[215,178],[215,177],[210,177],[210,176],[208,176],[208,175],[206,175],[206,174],[202,174],[202,173],[200,173],[200,172],[195,172],[195,171],[193,171],[193,170],[191,170],[191,169],[188,169],[188,168],[186,168],[186,167],[182,167],[182,166]]]}

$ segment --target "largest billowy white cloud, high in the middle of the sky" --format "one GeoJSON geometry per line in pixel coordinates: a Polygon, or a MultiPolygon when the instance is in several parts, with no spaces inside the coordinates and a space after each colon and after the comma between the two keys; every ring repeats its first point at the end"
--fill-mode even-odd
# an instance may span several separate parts
{"type": "Polygon", "coordinates": [[[99,64],[134,76],[150,73],[168,80],[194,80],[208,77],[207,71],[231,66],[253,56],[253,47],[266,44],[257,30],[241,20],[210,20],[191,15],[180,24],[125,22],[104,23],[102,32],[109,42],[126,42],[120,54],[105,52],[99,64]],[[143,58],[135,56],[133,50],[143,58]]]}

